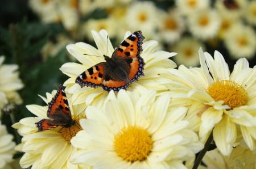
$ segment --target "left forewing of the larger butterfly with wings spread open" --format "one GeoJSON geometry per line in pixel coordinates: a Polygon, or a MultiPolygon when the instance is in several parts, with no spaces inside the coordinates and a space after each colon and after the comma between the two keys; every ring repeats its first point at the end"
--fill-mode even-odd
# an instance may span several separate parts
{"type": "Polygon", "coordinates": [[[100,62],[85,70],[76,78],[76,83],[81,87],[88,86],[96,88],[102,86],[105,78],[105,64],[106,62],[100,62]]]}

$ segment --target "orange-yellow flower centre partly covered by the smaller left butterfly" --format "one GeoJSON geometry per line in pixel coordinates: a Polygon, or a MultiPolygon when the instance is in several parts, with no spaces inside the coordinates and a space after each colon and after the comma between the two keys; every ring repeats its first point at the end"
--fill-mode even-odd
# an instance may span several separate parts
{"type": "Polygon", "coordinates": [[[79,122],[75,120],[73,125],[71,125],[70,127],[61,128],[59,130],[59,133],[68,143],[70,143],[71,138],[76,136],[76,133],[78,133],[80,130],[82,130],[81,126],[79,122]]]}

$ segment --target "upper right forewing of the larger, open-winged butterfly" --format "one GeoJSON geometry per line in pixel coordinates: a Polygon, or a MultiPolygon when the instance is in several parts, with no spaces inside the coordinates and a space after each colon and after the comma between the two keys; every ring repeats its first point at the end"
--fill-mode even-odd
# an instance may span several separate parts
{"type": "Polygon", "coordinates": [[[139,57],[142,52],[142,42],[144,36],[141,31],[132,33],[129,37],[122,41],[122,43],[115,49],[112,58],[115,57],[139,57]]]}

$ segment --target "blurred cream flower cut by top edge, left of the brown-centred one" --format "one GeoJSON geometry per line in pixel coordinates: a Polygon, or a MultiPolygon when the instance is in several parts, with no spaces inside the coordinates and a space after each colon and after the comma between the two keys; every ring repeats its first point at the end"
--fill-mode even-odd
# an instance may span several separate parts
{"type": "Polygon", "coordinates": [[[177,10],[188,16],[197,10],[208,9],[209,5],[209,0],[176,0],[177,10]]]}

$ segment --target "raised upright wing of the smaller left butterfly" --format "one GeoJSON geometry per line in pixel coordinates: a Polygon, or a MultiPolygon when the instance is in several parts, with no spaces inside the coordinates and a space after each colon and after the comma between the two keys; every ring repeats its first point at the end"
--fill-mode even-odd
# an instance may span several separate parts
{"type": "Polygon", "coordinates": [[[48,105],[47,117],[55,120],[72,120],[72,115],[69,109],[67,96],[62,85],[60,85],[57,88],[57,93],[48,105]]]}

